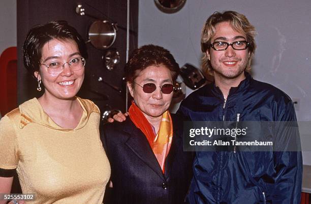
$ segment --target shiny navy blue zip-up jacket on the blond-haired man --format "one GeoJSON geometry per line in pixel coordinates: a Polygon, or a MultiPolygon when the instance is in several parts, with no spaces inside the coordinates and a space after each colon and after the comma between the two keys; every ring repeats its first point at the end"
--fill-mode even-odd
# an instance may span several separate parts
{"type": "MultiPolygon", "coordinates": [[[[177,114],[192,121],[295,121],[291,99],[272,85],[245,73],[225,101],[214,84],[206,85],[182,101],[177,114]]],[[[300,203],[301,151],[287,151],[298,138],[273,133],[283,151],[196,152],[187,201],[193,203],[300,203]]],[[[277,144],[276,144],[277,145],[277,144]]]]}

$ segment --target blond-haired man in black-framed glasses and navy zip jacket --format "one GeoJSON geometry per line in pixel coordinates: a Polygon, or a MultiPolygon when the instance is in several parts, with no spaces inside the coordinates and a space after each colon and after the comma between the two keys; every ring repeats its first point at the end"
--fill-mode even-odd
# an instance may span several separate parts
{"type": "Polygon", "coordinates": [[[202,29],[201,48],[203,68],[214,76],[214,83],[189,95],[177,113],[191,121],[271,121],[273,127],[258,128],[257,135],[269,138],[273,147],[197,151],[189,203],[300,203],[299,132],[275,125],[277,121],[297,125],[295,110],[284,92],[248,73],[255,35],[254,26],[242,14],[211,15],[202,29]]]}

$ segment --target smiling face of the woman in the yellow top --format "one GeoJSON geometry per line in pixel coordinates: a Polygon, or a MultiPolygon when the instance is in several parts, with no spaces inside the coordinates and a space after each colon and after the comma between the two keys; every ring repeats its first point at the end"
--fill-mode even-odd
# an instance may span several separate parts
{"type": "MultiPolygon", "coordinates": [[[[50,64],[57,61],[64,64],[75,57],[80,57],[80,52],[73,40],[51,39],[42,48],[40,63],[50,64]]],[[[67,100],[72,99],[80,90],[84,79],[84,68],[73,71],[66,63],[61,73],[50,74],[45,65],[40,65],[40,71],[34,74],[42,80],[45,87],[44,97],[51,100],[67,100]]]]}

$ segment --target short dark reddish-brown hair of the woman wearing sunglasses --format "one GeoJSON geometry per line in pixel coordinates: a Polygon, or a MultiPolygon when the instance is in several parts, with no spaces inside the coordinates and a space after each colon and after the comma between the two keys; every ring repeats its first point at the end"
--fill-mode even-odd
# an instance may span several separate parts
{"type": "Polygon", "coordinates": [[[152,65],[164,65],[171,71],[173,81],[176,81],[178,63],[170,51],[155,45],[145,45],[133,51],[125,69],[127,81],[132,84],[140,71],[152,65]]]}

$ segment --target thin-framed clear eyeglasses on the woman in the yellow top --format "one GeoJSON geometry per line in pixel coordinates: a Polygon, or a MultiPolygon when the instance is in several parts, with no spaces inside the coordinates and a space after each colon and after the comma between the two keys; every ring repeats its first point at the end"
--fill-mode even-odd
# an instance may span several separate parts
{"type": "Polygon", "coordinates": [[[52,61],[49,64],[42,64],[42,63],[40,64],[44,65],[50,74],[59,74],[64,70],[66,63],[68,63],[68,65],[73,71],[78,71],[85,66],[85,59],[83,57],[75,57],[71,59],[69,62],[65,62],[63,64],[61,64],[61,62],[58,61],[52,61]]]}

